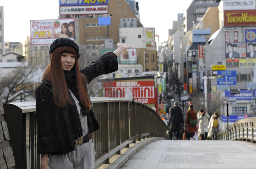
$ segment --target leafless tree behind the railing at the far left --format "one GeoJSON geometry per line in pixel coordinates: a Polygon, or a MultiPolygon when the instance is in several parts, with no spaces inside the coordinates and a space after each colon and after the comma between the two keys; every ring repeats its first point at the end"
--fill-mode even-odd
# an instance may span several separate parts
{"type": "Polygon", "coordinates": [[[0,92],[3,102],[30,101],[33,99],[35,85],[40,82],[40,80],[35,80],[37,76],[38,69],[36,66],[25,64],[6,74],[2,73],[0,92]]]}

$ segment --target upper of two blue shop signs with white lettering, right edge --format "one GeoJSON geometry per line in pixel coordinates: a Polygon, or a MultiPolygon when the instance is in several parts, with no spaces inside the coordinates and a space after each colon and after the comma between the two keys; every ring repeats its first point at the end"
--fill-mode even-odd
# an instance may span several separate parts
{"type": "MultiPolygon", "coordinates": [[[[255,97],[255,91],[253,95],[255,97]]],[[[240,93],[230,94],[230,90],[225,90],[225,99],[236,99],[236,100],[252,100],[252,91],[251,90],[240,90],[240,93]]]]}

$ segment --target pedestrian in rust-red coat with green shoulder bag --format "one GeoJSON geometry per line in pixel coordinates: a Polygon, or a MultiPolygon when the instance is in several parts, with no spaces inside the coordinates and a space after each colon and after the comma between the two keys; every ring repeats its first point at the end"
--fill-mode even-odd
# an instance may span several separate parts
{"type": "Polygon", "coordinates": [[[196,126],[191,126],[190,122],[189,122],[189,114],[190,113],[190,117],[191,119],[196,119],[196,111],[193,110],[193,105],[189,105],[189,109],[187,111],[187,117],[186,117],[186,126],[187,126],[187,138],[193,138],[193,136],[195,135],[195,132],[197,130],[196,126]]]}

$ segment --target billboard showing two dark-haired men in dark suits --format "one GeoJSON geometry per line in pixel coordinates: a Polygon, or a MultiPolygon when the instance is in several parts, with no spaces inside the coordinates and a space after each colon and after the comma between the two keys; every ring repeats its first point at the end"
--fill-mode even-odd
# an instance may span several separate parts
{"type": "Polygon", "coordinates": [[[246,43],[226,43],[226,59],[245,57],[246,43]]]}

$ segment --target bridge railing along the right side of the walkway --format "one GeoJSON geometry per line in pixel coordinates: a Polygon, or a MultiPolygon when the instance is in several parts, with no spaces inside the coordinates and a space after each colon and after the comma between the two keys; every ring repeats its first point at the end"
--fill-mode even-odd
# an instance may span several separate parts
{"type": "Polygon", "coordinates": [[[224,130],[217,136],[218,140],[241,140],[256,142],[256,117],[241,119],[230,125],[229,131],[224,130]]]}

